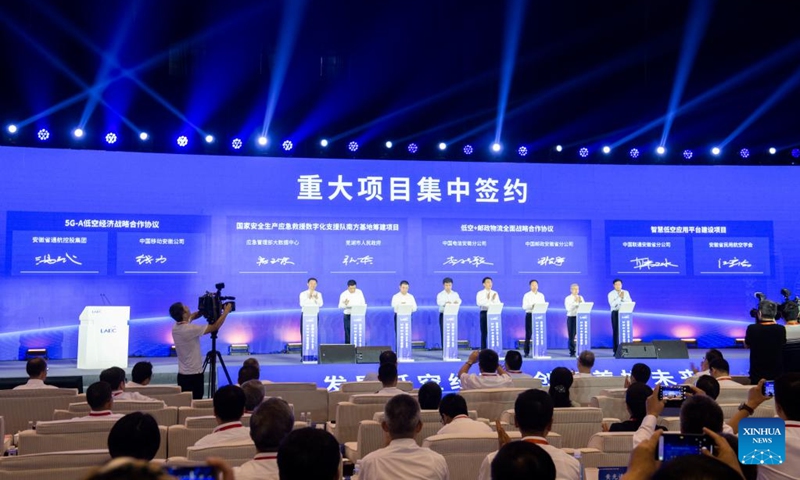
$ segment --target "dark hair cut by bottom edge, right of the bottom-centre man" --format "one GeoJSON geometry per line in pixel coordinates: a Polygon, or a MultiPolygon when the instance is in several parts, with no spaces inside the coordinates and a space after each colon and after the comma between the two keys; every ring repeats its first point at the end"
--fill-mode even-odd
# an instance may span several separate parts
{"type": "Polygon", "coordinates": [[[550,454],[531,442],[509,442],[492,460],[492,480],[555,480],[556,466],[550,454]]]}

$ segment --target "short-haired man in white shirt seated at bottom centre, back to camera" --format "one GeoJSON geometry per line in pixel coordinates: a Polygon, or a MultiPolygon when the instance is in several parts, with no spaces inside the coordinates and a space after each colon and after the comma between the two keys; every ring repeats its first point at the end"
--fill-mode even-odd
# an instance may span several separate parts
{"type": "Polygon", "coordinates": [[[428,448],[420,447],[414,440],[414,435],[422,430],[419,404],[414,397],[411,395],[392,397],[384,408],[381,426],[388,433],[391,442],[359,461],[361,466],[359,480],[449,478],[447,461],[444,457],[428,448]]]}

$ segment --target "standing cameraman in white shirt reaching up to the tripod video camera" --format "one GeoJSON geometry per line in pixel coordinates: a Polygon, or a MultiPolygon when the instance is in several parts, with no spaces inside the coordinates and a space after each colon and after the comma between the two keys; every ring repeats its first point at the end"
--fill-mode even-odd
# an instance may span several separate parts
{"type": "Polygon", "coordinates": [[[219,330],[232,308],[232,304],[225,304],[222,314],[214,323],[192,325],[193,320],[202,316],[200,312],[192,313],[188,306],[180,302],[169,307],[169,316],[176,322],[172,326],[172,341],[178,354],[178,385],[181,386],[181,391],[192,392],[192,398],[203,398],[203,354],[200,337],[219,330]]]}

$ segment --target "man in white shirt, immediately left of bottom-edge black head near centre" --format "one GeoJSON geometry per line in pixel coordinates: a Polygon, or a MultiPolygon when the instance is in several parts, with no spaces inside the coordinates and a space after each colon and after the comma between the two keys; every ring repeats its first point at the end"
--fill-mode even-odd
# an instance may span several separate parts
{"type": "Polygon", "coordinates": [[[294,415],[285,400],[270,398],[259,405],[250,417],[250,438],[258,453],[234,469],[236,480],[277,480],[278,447],[292,428],[294,415]]]}

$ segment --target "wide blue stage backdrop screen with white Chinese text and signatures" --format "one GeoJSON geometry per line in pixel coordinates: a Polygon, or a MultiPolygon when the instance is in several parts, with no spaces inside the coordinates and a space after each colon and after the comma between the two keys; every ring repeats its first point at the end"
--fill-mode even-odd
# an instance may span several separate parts
{"type": "Polygon", "coordinates": [[[413,337],[439,343],[445,276],[479,344],[484,276],[505,303],[504,345],[523,336],[538,279],[548,342],[566,347],[569,285],[595,302],[592,343],[611,343],[606,295],[637,302],[636,337],[733,345],[763,290],[798,288],[800,222],[788,167],[539,165],[190,156],[0,148],[0,358],[46,346],[77,355],[87,305],[130,305],[131,355],[166,355],[169,305],[217,282],[238,297],[220,349],[299,340],[299,293],[319,279],[321,343],[343,338],[339,294],[355,279],[367,343],[392,345],[400,280],[420,305],[413,337]]]}

